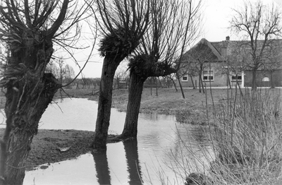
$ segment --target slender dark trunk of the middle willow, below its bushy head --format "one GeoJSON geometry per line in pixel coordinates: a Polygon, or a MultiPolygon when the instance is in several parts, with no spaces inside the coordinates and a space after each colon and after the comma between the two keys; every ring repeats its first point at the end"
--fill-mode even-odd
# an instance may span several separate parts
{"type": "MultiPolygon", "coordinates": [[[[123,57],[124,58],[124,57],[123,57]]],[[[99,102],[93,148],[106,148],[109,122],[111,117],[111,96],[113,91],[114,74],[122,59],[116,56],[105,56],[102,76],[99,86],[99,102]]]]}

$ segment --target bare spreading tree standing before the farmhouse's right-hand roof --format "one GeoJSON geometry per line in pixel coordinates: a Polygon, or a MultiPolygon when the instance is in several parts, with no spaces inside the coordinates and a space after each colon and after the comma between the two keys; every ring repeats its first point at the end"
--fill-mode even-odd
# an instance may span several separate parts
{"type": "MultiPolygon", "coordinates": [[[[233,9],[235,15],[231,19],[231,30],[243,36],[246,42],[249,60],[244,66],[252,70],[252,90],[257,89],[257,70],[263,68],[269,54],[271,42],[281,36],[281,11],[274,3],[264,5],[262,1],[251,3],[245,1],[243,8],[233,9]]],[[[243,46],[246,48],[246,46],[243,46]]]]}

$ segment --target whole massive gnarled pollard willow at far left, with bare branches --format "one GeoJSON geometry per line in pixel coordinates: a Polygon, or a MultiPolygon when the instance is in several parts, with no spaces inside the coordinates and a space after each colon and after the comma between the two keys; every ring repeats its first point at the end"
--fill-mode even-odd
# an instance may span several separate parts
{"type": "MultiPolygon", "coordinates": [[[[0,184],[23,184],[25,160],[39,119],[61,88],[52,73],[45,73],[54,53],[53,43],[63,44],[86,11],[85,5],[74,10],[76,3],[1,1],[0,40],[6,47],[1,85],[6,88],[6,129],[1,139],[0,184]]],[[[75,35],[71,38],[73,41],[75,35]]]]}

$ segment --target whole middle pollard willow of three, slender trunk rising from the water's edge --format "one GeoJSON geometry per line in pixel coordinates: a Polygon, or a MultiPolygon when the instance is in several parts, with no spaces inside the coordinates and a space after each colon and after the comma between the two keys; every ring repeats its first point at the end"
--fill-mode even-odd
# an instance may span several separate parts
{"type": "Polygon", "coordinates": [[[93,148],[106,148],[111,116],[114,74],[137,47],[149,23],[149,0],[97,0],[92,9],[102,34],[99,52],[104,56],[93,148]]]}

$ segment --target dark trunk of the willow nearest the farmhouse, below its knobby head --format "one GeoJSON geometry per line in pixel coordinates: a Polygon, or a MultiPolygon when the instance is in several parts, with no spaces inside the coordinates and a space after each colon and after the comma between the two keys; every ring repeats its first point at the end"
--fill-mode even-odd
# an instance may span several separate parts
{"type": "Polygon", "coordinates": [[[121,138],[137,137],[138,115],[142,98],[143,84],[146,79],[147,77],[142,77],[134,72],[130,72],[128,107],[121,138]]]}

